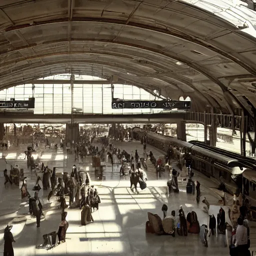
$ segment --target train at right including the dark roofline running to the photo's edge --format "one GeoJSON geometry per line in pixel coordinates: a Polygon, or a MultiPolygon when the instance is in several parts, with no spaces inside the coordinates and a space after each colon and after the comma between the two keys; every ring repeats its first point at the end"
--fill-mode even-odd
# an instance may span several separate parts
{"type": "Polygon", "coordinates": [[[184,150],[190,152],[191,167],[210,177],[218,185],[224,183],[226,190],[231,194],[242,192],[242,173],[245,169],[256,170],[254,159],[207,146],[198,141],[186,142],[137,127],[133,128],[132,133],[133,138],[143,140],[165,153],[171,146],[177,159],[184,150]]]}

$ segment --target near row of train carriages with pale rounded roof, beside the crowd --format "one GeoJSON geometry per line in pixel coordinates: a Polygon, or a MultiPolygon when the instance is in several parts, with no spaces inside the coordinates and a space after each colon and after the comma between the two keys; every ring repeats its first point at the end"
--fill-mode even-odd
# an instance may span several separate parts
{"type": "Polygon", "coordinates": [[[174,137],[163,136],[139,128],[136,128],[135,131],[138,136],[145,136],[148,144],[164,152],[167,152],[168,148],[171,146],[173,148],[174,157],[177,159],[179,159],[179,155],[184,150],[191,152],[193,161],[192,167],[194,169],[211,177],[217,184],[221,182],[224,183],[230,193],[239,192],[243,164],[238,160],[174,137]]]}

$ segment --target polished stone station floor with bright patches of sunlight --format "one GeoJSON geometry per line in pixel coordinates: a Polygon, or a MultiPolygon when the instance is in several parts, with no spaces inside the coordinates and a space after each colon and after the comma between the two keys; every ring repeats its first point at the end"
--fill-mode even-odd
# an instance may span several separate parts
{"type": "MultiPolygon", "coordinates": [[[[142,156],[142,145],[135,142],[114,142],[114,144],[128,152],[138,150],[142,156]]],[[[7,156],[6,160],[11,164],[26,166],[26,161],[19,159],[24,151],[24,146],[9,148],[3,151],[7,156]],[[9,156],[8,156],[9,154],[9,156]]],[[[147,145],[147,151],[152,150],[155,156],[162,155],[156,148],[147,145]]],[[[74,155],[66,155],[58,149],[44,149],[41,146],[37,152],[38,161],[43,161],[49,167],[59,166],[60,169],[70,170],[74,163],[74,155]]],[[[76,160],[77,166],[78,161],[76,160]]],[[[157,236],[145,233],[145,222],[147,212],[157,213],[162,218],[161,206],[168,205],[168,214],[171,210],[178,210],[182,205],[187,213],[194,210],[200,224],[207,224],[208,214],[202,211],[203,203],[197,204],[194,195],[186,194],[185,181],[179,180],[178,194],[166,194],[167,173],[156,179],[155,170],[150,162],[148,164],[147,188],[134,194],[129,189],[128,176],[120,177],[118,169],[113,169],[108,163],[104,172],[105,180],[98,181],[90,165],[90,159],[86,159],[79,167],[90,172],[92,183],[98,187],[101,203],[99,210],[92,213],[93,223],[86,226],[80,224],[80,210],[67,209],[67,221],[69,227],[66,234],[66,242],[55,248],[46,251],[35,249],[36,245],[42,243],[42,235],[58,229],[60,222],[60,210],[56,202],[47,202],[46,191],[42,194],[45,218],[41,220],[40,228],[36,228],[35,219],[28,214],[28,205],[20,200],[20,189],[3,185],[0,188],[0,255],[3,255],[3,229],[6,224],[13,224],[12,233],[16,243],[13,243],[14,255],[135,255],[135,256],[156,256],[156,255],[228,255],[228,248],[225,247],[226,237],[211,236],[208,238],[209,247],[202,246],[199,236],[188,234],[187,237],[178,236],[157,236]]],[[[173,163],[175,166],[175,163],[173,163]]],[[[26,168],[25,168],[25,171],[26,168]]],[[[29,191],[35,183],[34,174],[26,173],[29,191]]],[[[204,196],[210,202],[209,214],[219,209],[217,195],[210,189],[216,185],[205,176],[195,172],[195,179],[201,183],[201,198],[204,196]]],[[[0,179],[3,184],[3,179],[0,179]]],[[[227,212],[227,210],[226,210],[227,212]]]]}

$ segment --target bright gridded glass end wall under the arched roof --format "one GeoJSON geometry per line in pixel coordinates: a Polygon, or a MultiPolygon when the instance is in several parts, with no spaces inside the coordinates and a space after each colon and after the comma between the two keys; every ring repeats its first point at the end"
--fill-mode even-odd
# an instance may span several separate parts
{"type": "MultiPolygon", "coordinates": [[[[41,78],[70,79],[70,74],[59,74],[41,78]]],[[[104,80],[95,76],[75,75],[75,80],[104,80]]],[[[0,100],[27,100],[35,98],[35,114],[70,114],[71,113],[71,85],[63,84],[22,84],[0,90],[0,100]],[[34,90],[34,91],[33,91],[34,90]]],[[[155,96],[134,85],[114,84],[114,97],[120,99],[153,100],[155,96]]],[[[156,98],[157,99],[157,98],[156,98]]],[[[128,114],[128,113],[157,113],[159,109],[112,109],[110,84],[73,84],[73,112],[86,114],[128,114]]]]}

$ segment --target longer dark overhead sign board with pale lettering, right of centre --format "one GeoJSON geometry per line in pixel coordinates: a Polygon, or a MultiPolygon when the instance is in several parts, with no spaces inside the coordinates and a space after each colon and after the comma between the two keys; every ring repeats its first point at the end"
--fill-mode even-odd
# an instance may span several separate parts
{"type": "Polygon", "coordinates": [[[112,108],[164,108],[189,109],[191,101],[179,100],[113,100],[112,108]]]}

